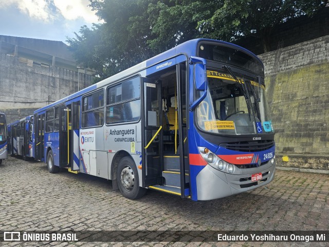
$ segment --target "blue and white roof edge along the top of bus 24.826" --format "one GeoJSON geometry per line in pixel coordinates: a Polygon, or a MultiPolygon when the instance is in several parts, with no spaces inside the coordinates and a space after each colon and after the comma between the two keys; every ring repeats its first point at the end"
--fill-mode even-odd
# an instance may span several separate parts
{"type": "Polygon", "coordinates": [[[44,106],[40,109],[37,109],[34,111],[34,114],[35,113],[40,113],[40,112],[43,112],[45,111],[46,109],[50,108],[50,107],[53,107],[53,106],[56,106],[56,105],[59,105],[59,104],[62,104],[62,103],[65,103],[67,101],[70,101],[72,99],[75,99],[75,98],[78,98],[78,97],[81,97],[83,94],[87,93],[87,92],[90,92],[90,91],[93,91],[97,88],[100,88],[100,87],[103,87],[105,86],[106,84],[109,84],[109,83],[113,83],[113,82],[116,82],[122,78],[125,78],[125,77],[129,77],[130,75],[133,75],[134,73],[137,73],[143,69],[146,69],[148,67],[151,67],[161,61],[166,61],[167,59],[170,59],[172,58],[173,56],[176,56],[178,54],[186,54],[188,57],[190,56],[195,56],[196,55],[196,50],[197,50],[197,44],[199,42],[202,42],[202,41],[206,41],[206,42],[216,42],[218,44],[222,44],[223,46],[228,46],[228,47],[231,47],[231,48],[235,48],[235,49],[238,49],[238,50],[241,50],[247,54],[249,54],[250,56],[254,57],[255,59],[257,59],[261,64],[262,61],[258,58],[257,55],[255,55],[254,53],[252,53],[251,51],[241,47],[241,46],[238,46],[238,45],[235,45],[235,44],[232,44],[232,43],[228,43],[228,42],[225,42],[225,41],[218,41],[218,40],[211,40],[211,39],[194,39],[194,40],[190,40],[190,41],[186,41],[184,43],[181,43],[179,45],[177,45],[176,47],[173,47],[165,52],[162,52],[156,56],[153,56],[152,58],[146,60],[146,61],[143,61],[139,64],[136,64],[135,66],[133,67],[130,67],[128,69],[125,69],[117,74],[114,74],[112,75],[111,77],[108,77],[94,85],[90,85],[78,92],[75,92],[75,93],[72,93],[70,94],[69,96],[63,98],[63,99],[60,99],[56,102],[53,102],[47,106],[44,106]]]}

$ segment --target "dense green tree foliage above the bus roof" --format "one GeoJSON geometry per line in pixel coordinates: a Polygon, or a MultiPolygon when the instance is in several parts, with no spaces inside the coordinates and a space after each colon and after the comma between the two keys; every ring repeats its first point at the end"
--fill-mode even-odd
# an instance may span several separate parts
{"type": "Polygon", "coordinates": [[[235,42],[325,6],[321,0],[89,0],[102,24],[67,37],[75,58],[100,79],[197,37],[235,42]]]}

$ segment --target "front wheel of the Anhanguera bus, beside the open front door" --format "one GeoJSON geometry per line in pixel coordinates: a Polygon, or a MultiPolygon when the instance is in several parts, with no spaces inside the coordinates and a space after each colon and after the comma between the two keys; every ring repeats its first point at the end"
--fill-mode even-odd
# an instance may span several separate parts
{"type": "Polygon", "coordinates": [[[130,157],[123,157],[118,165],[117,183],[121,194],[128,199],[141,198],[146,188],[139,186],[138,171],[134,161],[130,157]]]}

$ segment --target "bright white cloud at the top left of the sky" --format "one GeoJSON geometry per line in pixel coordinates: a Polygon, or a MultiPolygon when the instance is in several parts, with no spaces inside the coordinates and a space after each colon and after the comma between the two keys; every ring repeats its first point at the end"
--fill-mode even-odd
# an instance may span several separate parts
{"type": "Polygon", "coordinates": [[[97,23],[95,11],[88,4],[88,0],[0,0],[0,9],[13,5],[31,18],[45,22],[62,15],[70,21],[83,18],[86,23],[97,23]]]}

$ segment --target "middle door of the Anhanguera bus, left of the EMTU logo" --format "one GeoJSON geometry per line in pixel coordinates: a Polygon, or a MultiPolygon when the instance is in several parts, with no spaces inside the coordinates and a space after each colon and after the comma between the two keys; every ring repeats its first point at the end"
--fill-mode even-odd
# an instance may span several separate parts
{"type": "Polygon", "coordinates": [[[68,130],[70,126],[71,105],[60,106],[60,133],[59,133],[59,149],[60,149],[60,167],[69,167],[70,165],[70,142],[68,130]]]}

